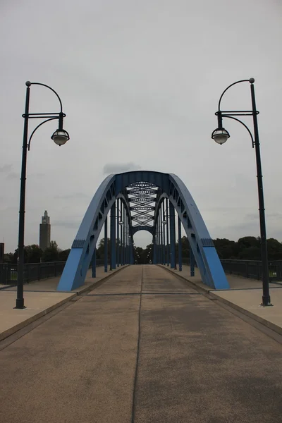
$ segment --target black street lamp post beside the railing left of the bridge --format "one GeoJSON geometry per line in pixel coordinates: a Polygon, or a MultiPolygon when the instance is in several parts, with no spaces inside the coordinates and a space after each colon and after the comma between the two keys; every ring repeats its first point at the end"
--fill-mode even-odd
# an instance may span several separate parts
{"type": "Polygon", "coordinates": [[[25,95],[25,114],[23,118],[25,119],[24,128],[23,128],[23,155],[22,155],[22,169],[20,176],[20,212],[19,212],[19,224],[18,224],[18,281],[17,281],[17,298],[16,298],[16,309],[25,308],[24,298],[23,298],[23,264],[24,264],[24,241],[25,241],[25,181],[26,181],[26,166],[27,166],[27,150],[30,150],[30,141],[35,131],[43,123],[54,121],[55,119],[59,120],[59,128],[51,136],[51,139],[56,143],[56,145],[63,145],[69,139],[69,135],[66,130],[63,130],[63,118],[66,117],[66,114],[63,113],[63,106],[61,99],[56,91],[48,85],[41,84],[39,82],[25,82],[27,87],[25,95]],[[30,86],[31,85],[42,85],[43,87],[49,88],[56,97],[59,99],[60,111],[59,113],[29,113],[30,108],[30,86]],[[30,138],[27,142],[28,137],[28,121],[29,119],[41,118],[45,119],[43,122],[39,123],[37,127],[32,131],[30,138]]]}

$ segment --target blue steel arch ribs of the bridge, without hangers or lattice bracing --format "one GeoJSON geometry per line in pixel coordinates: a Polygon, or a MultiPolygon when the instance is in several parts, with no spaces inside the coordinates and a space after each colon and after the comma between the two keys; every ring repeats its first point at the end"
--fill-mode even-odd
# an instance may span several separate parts
{"type": "Polygon", "coordinates": [[[212,288],[229,288],[221,262],[216,253],[212,238],[207,231],[202,216],[188,188],[173,173],[154,171],[133,171],[110,175],[104,179],[94,194],[85,213],[78,233],[73,241],[70,255],[61,276],[57,290],[73,290],[85,281],[99,233],[113,204],[122,198],[130,222],[130,234],[140,230],[154,235],[159,207],[167,197],[173,205],[192,247],[202,281],[212,288]],[[156,190],[156,207],[154,207],[154,226],[133,227],[130,219],[130,206],[127,188],[140,181],[152,183],[156,190]]]}

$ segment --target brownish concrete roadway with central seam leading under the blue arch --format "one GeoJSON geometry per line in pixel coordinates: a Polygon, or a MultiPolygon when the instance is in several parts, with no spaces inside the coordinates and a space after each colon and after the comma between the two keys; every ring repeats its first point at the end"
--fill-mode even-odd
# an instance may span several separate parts
{"type": "Polygon", "coordinates": [[[1,423],[281,422],[281,343],[157,266],[19,336],[0,343],[1,423]]]}

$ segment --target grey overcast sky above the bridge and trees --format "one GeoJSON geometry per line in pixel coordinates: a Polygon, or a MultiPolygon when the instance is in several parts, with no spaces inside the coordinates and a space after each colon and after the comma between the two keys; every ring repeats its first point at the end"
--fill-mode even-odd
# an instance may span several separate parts
{"type": "MultiPolygon", "coordinates": [[[[71,247],[87,206],[109,173],[176,173],[212,238],[259,235],[255,150],[243,125],[211,138],[221,92],[255,78],[268,238],[282,241],[280,0],[2,0],[0,2],[0,240],[18,244],[25,81],[61,96],[71,136],[32,138],[27,159],[25,245],[39,243],[47,209],[51,239],[71,247]]],[[[223,109],[250,109],[250,84],[226,93],[223,109]]],[[[59,111],[32,86],[31,112],[59,111]]],[[[35,121],[30,121],[30,129],[35,121]]],[[[36,122],[39,123],[39,122],[36,122]]],[[[245,123],[252,128],[252,118],[245,123]]],[[[135,235],[135,245],[150,242],[135,235]]]]}

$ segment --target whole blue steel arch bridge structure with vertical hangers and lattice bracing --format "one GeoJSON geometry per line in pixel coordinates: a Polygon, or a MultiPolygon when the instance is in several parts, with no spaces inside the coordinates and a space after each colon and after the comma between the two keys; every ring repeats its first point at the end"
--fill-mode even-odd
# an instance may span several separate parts
{"type": "MultiPolygon", "coordinates": [[[[111,269],[133,264],[133,236],[152,234],[153,263],[176,266],[176,216],[178,240],[181,223],[190,243],[190,270],[197,264],[203,283],[214,289],[229,288],[212,238],[188,188],[173,173],[133,171],[108,176],[90,202],[73,241],[57,290],[82,286],[92,264],[96,275],[96,245],[104,226],[108,238],[110,219],[111,269]]],[[[181,269],[181,243],[178,243],[181,269]]],[[[105,243],[107,257],[107,243],[105,243]]],[[[106,270],[106,266],[105,266],[106,270]]]]}

